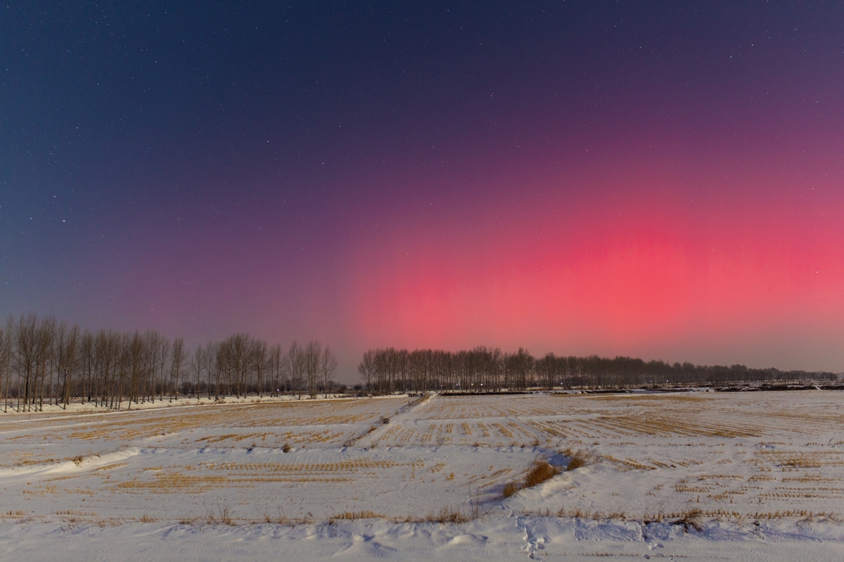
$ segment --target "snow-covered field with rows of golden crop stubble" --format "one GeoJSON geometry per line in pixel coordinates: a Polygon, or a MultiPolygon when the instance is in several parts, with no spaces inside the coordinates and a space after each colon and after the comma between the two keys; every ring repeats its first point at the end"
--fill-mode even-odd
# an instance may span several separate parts
{"type": "Polygon", "coordinates": [[[844,559],[840,392],[181,404],[0,414],[0,559],[844,559]]]}

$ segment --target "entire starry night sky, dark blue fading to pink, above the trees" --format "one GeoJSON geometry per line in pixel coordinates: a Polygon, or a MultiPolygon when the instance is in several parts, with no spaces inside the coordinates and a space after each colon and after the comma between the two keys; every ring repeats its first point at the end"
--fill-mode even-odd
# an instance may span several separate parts
{"type": "Polygon", "coordinates": [[[844,370],[844,2],[0,8],[0,313],[844,370]]]}

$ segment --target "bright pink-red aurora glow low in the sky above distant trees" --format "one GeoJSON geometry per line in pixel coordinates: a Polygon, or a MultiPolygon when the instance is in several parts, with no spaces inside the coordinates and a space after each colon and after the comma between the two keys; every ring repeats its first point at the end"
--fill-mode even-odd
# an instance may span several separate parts
{"type": "Polygon", "coordinates": [[[647,175],[574,196],[547,181],[436,226],[403,217],[349,263],[360,340],[701,362],[744,345],[752,362],[766,340],[844,334],[839,190],[647,175]]]}

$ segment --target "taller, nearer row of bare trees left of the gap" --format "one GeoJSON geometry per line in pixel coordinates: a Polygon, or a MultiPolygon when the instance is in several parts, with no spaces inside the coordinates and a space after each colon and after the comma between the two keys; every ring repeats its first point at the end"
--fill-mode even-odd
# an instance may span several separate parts
{"type": "Polygon", "coordinates": [[[288,347],[248,334],[190,350],[182,338],[68,326],[47,316],[10,316],[0,327],[3,411],[64,408],[72,400],[110,409],[179,396],[221,399],[247,393],[279,396],[332,392],[333,351],[317,340],[288,347]]]}

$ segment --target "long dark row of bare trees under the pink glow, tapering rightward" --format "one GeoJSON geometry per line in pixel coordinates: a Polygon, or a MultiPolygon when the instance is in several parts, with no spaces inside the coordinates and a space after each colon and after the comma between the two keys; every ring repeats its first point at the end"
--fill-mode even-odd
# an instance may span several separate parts
{"type": "Polygon", "coordinates": [[[831,372],[752,369],[744,365],[699,366],[633,357],[533,357],[527,350],[365,351],[358,366],[361,386],[372,393],[500,392],[528,388],[641,388],[648,386],[835,381],[831,372]]]}

